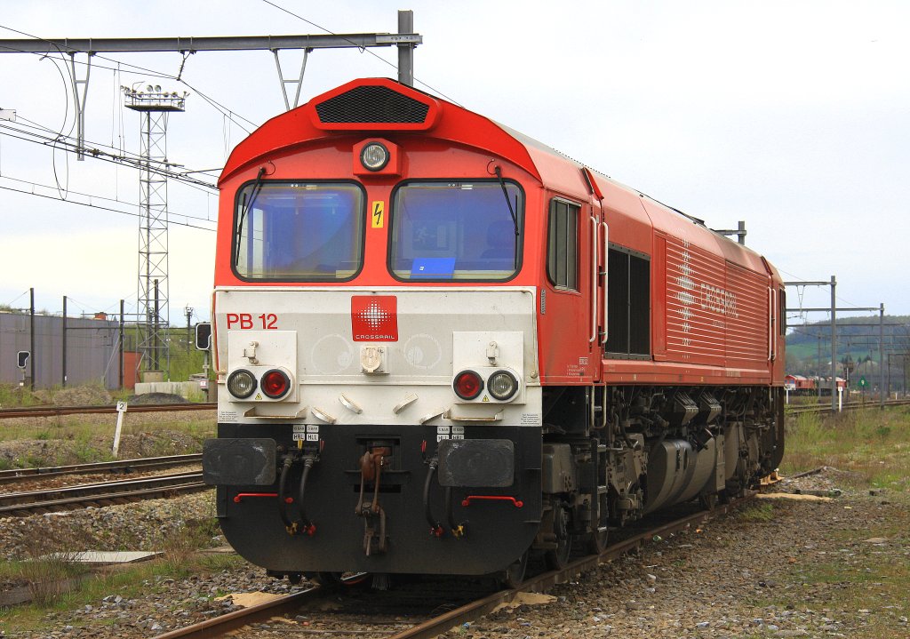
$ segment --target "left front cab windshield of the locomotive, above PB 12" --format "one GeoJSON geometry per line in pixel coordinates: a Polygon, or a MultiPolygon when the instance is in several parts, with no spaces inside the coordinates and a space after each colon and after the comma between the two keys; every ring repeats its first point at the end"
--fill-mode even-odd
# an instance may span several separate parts
{"type": "Polygon", "coordinates": [[[245,279],[353,279],[364,219],[363,191],[353,184],[248,184],[237,198],[235,269],[245,279]]]}

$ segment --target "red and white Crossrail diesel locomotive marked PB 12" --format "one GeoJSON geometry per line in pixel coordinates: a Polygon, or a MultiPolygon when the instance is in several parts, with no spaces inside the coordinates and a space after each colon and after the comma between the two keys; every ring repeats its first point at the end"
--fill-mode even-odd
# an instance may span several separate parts
{"type": "Polygon", "coordinates": [[[361,79],[220,177],[206,481],[270,573],[496,573],[784,451],[760,255],[486,117],[361,79]]]}

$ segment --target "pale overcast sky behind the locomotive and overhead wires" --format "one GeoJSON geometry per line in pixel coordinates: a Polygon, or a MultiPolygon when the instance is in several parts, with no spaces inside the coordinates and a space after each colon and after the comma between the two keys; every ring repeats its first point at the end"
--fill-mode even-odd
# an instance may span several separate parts
{"type": "MultiPolygon", "coordinates": [[[[395,32],[397,10],[413,9],[424,38],[415,52],[420,88],[709,227],[745,220],[747,244],[785,279],[835,275],[840,307],[884,302],[889,314],[910,314],[910,3],[0,0],[0,7],[0,38],[395,32]]],[[[299,55],[282,59],[286,75],[296,73],[299,55]]],[[[391,48],[316,51],[301,103],[356,77],[394,77],[396,60],[391,48]]],[[[188,86],[161,77],[177,76],[181,61],[178,54],[96,56],[89,146],[139,152],[139,116],[122,107],[121,85],[190,92],[186,113],[169,120],[167,140],[169,161],[186,170],[223,166],[254,125],[284,109],[268,52],[198,53],[183,68],[188,86]]],[[[0,108],[17,114],[15,123],[0,124],[75,135],[67,73],[59,56],[0,55],[0,108]]],[[[38,308],[52,312],[64,295],[73,314],[116,312],[119,299],[134,310],[136,170],[77,162],[10,128],[0,134],[0,304],[26,307],[34,287],[38,308]]],[[[172,183],[168,200],[173,221],[202,227],[170,229],[171,318],[182,324],[188,305],[207,319],[215,238],[207,220],[215,218],[217,195],[172,183]]],[[[826,288],[806,289],[802,303],[827,307],[829,296],[826,288]]],[[[799,306],[797,289],[788,301],[799,306]]]]}

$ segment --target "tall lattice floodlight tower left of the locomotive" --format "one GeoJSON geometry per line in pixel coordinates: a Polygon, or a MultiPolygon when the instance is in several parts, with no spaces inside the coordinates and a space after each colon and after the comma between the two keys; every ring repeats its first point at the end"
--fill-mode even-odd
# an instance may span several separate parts
{"type": "Polygon", "coordinates": [[[163,370],[170,358],[167,281],[167,116],[185,110],[187,93],[161,86],[121,86],[126,108],[141,114],[139,174],[139,285],[136,294],[138,350],[145,370],[163,370]]]}

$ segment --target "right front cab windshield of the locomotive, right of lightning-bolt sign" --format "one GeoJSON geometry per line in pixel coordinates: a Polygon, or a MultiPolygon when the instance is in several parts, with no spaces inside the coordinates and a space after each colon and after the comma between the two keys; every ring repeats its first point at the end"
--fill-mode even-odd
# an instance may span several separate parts
{"type": "Polygon", "coordinates": [[[521,188],[514,183],[506,182],[503,190],[498,181],[410,182],[395,191],[392,203],[392,275],[511,279],[521,261],[523,210],[521,188]]]}

